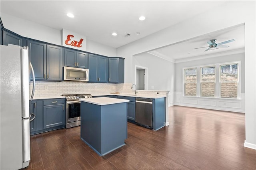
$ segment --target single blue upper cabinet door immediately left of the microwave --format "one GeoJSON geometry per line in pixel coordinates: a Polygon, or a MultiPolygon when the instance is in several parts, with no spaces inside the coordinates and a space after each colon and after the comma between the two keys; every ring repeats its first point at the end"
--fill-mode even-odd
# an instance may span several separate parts
{"type": "Polygon", "coordinates": [[[46,79],[49,81],[62,81],[63,48],[47,45],[46,79]]]}

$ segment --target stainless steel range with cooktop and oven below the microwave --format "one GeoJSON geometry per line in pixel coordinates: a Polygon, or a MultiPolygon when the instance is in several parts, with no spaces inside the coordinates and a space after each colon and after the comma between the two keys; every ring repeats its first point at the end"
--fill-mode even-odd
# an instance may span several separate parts
{"type": "Polygon", "coordinates": [[[80,105],[81,98],[92,98],[90,94],[70,94],[62,95],[66,97],[66,128],[80,126],[81,113],[80,105]]]}

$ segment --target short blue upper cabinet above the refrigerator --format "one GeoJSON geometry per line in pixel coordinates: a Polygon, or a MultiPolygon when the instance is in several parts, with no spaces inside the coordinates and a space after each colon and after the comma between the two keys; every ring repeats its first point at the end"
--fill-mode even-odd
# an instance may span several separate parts
{"type": "Polygon", "coordinates": [[[22,46],[22,37],[13,32],[3,30],[3,45],[14,44],[22,46]]]}

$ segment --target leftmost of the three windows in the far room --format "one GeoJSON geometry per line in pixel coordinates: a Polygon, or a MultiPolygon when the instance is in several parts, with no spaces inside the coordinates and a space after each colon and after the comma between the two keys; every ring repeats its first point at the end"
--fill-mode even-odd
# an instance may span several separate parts
{"type": "Polygon", "coordinates": [[[196,68],[184,70],[184,91],[185,96],[196,96],[196,68]]]}

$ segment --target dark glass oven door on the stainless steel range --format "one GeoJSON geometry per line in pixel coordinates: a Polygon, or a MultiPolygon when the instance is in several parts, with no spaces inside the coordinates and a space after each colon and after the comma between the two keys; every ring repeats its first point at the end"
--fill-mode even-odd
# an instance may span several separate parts
{"type": "Polygon", "coordinates": [[[80,105],[81,105],[81,101],[67,101],[67,105],[66,105],[66,123],[70,123],[70,122],[76,122],[76,121],[80,121],[81,119],[81,113],[80,113],[80,105]]]}

